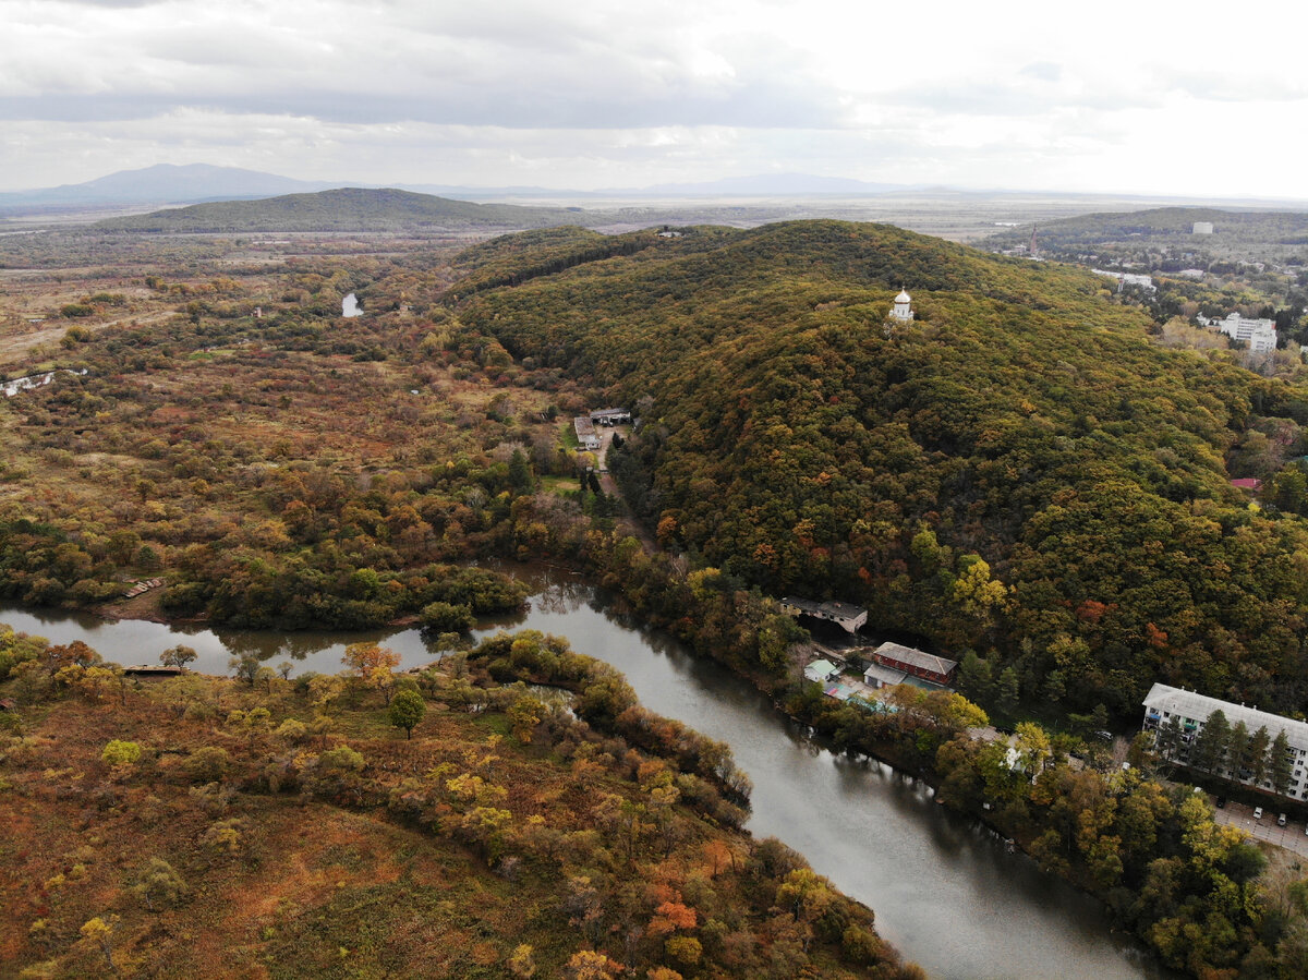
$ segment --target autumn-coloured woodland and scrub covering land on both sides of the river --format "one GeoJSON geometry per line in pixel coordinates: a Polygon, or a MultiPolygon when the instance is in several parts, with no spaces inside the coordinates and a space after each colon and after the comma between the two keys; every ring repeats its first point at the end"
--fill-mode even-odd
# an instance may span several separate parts
{"type": "Polygon", "coordinates": [[[497,569],[531,559],[836,751],[929,780],[1167,966],[1299,975],[1304,887],[1260,878],[1167,758],[1137,741],[1122,775],[1090,737],[1135,727],[1155,682],[1308,710],[1308,377],[1173,343],[1181,305],[1253,309],[1257,281],[1159,302],[842,221],[494,237],[468,205],[443,230],[388,211],[303,230],[319,205],[276,233],[203,205],[0,238],[0,370],[33,379],[0,407],[0,597],[413,624],[447,656],[402,675],[361,645],[336,676],[237,658],[143,684],[0,633],[0,857],[20,869],[0,905],[21,909],[0,962],[920,976],[869,909],[742,831],[725,746],[565,639],[466,639],[523,603],[497,569]],[[909,322],[887,315],[901,288],[909,322]],[[604,406],[634,425],[600,474],[572,420],[604,406]],[[960,661],[960,693],[880,714],[821,697],[790,593],[960,661]],[[1020,776],[968,735],[989,721],[1020,776]],[[260,901],[215,898],[235,894],[260,901]]]}

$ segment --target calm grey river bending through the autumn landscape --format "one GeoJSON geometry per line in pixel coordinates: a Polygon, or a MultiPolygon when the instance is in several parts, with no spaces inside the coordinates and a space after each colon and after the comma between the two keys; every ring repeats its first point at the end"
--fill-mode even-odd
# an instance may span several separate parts
{"type": "MultiPolygon", "coordinates": [[[[935,805],[931,790],[870,759],[828,751],[726,669],[641,629],[594,587],[560,569],[513,569],[534,587],[531,610],[484,621],[566,636],[619,667],[641,703],[727,742],[753,781],[748,828],[799,850],[820,874],[876,912],[880,933],[940,980],[1162,977],[1138,946],[1110,933],[1100,907],[994,835],[935,805]]],[[[103,623],[0,606],[0,621],[52,642],[82,640],[107,659],[157,663],[166,646],[195,648],[196,670],[225,673],[232,653],[256,653],[296,673],[341,670],[345,644],[375,640],[417,666],[433,653],[417,629],[364,633],[208,631],[103,623]]]]}

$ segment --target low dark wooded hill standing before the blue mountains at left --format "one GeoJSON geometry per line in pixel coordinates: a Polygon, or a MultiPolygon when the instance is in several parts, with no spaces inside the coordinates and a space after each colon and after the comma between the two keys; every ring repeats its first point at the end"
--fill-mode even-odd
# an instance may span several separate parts
{"type": "Polygon", "coordinates": [[[540,228],[586,224],[583,212],[472,204],[396,190],[345,187],[317,194],[288,194],[264,200],[229,200],[188,208],[110,219],[106,232],[394,232],[400,229],[540,228]]]}

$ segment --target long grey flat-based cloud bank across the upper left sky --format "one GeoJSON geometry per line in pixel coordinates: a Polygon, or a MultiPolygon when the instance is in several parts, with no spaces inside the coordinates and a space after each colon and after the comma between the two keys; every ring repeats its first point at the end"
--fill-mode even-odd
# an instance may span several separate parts
{"type": "Polygon", "coordinates": [[[357,8],[315,7],[292,3],[279,17],[191,4],[166,17],[101,10],[81,30],[67,17],[18,22],[24,43],[0,55],[0,118],[140,119],[192,106],[353,123],[836,123],[836,90],[766,37],[688,43],[651,16],[565,17],[532,4],[497,5],[494,17],[399,5],[358,24],[357,8]]]}

